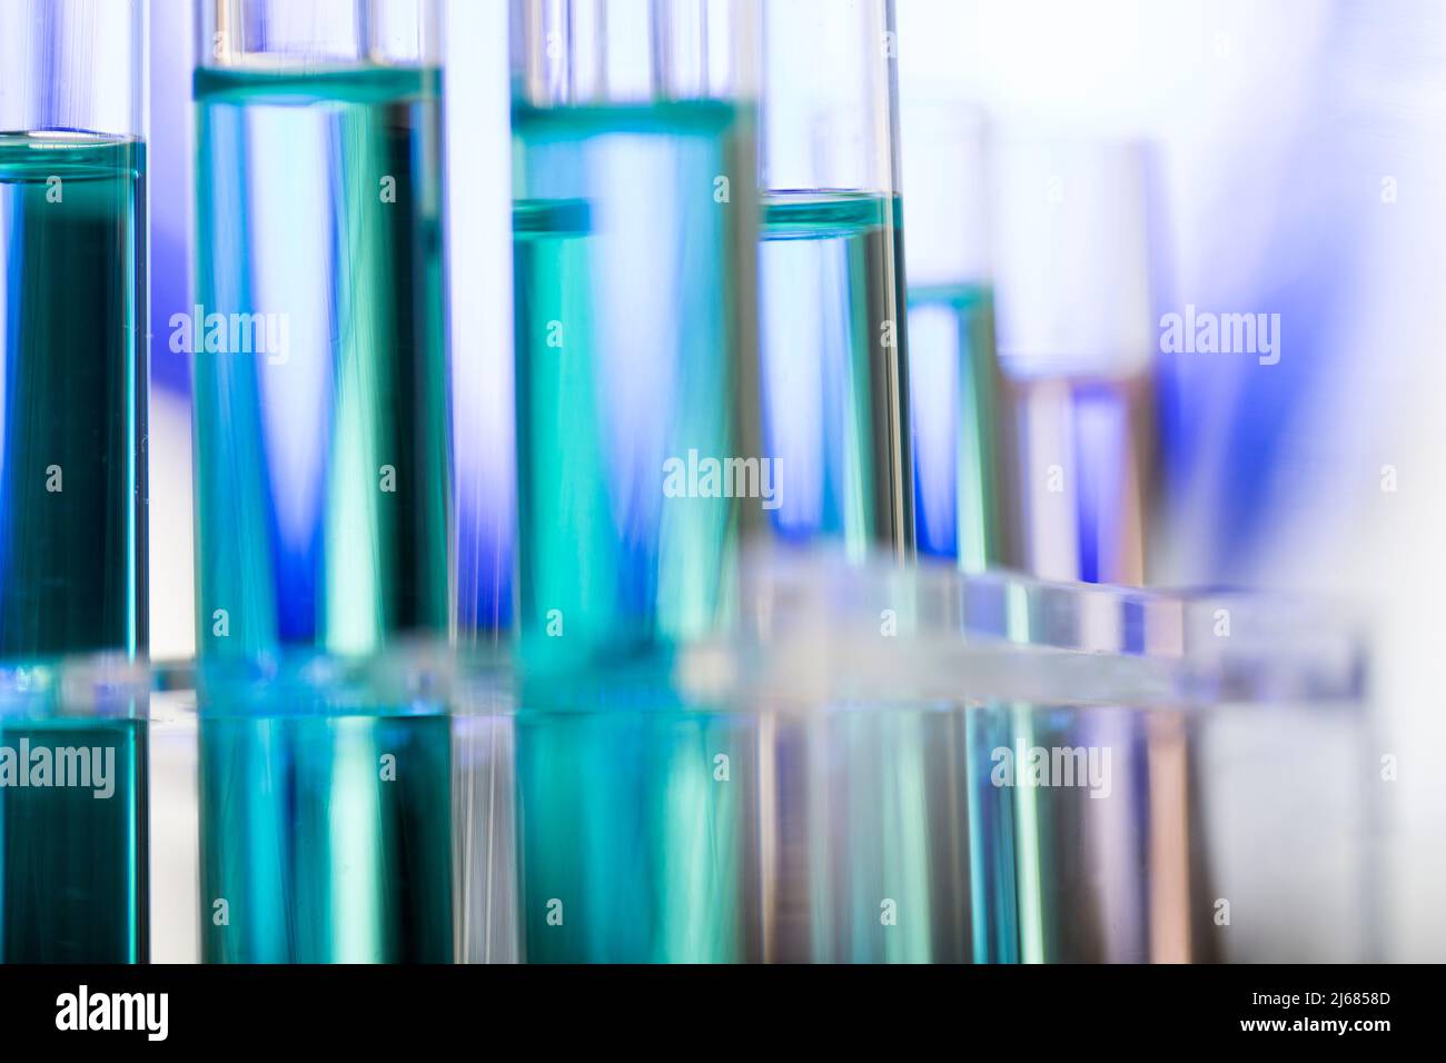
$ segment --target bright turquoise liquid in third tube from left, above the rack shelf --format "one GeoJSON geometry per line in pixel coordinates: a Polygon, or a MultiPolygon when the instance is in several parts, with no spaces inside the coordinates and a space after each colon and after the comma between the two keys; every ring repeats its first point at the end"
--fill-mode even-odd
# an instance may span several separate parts
{"type": "Polygon", "coordinates": [[[516,616],[534,670],[691,638],[726,609],[737,503],[668,496],[665,464],[739,456],[746,130],[714,101],[513,110],[516,616]]]}

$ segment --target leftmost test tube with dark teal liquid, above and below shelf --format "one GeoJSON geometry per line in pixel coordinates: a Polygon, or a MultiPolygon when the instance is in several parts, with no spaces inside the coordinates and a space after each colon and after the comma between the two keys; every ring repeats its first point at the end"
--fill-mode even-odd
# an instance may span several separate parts
{"type": "MultiPolygon", "coordinates": [[[[0,4],[0,687],[27,700],[54,658],[146,652],[145,58],[140,3],[0,4]]],[[[146,957],[143,706],[0,706],[0,959],[146,957]],[[17,785],[81,749],[106,800],[17,785]]]]}

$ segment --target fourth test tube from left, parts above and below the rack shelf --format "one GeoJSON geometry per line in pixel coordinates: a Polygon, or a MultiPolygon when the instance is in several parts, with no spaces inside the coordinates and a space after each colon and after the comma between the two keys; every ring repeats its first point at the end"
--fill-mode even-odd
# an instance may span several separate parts
{"type": "MultiPolygon", "coordinates": [[[[852,561],[872,551],[910,561],[894,3],[769,0],[763,13],[759,379],[763,450],[778,484],[769,529],[784,542],[839,542],[852,561]]],[[[920,801],[947,801],[950,788],[937,782],[938,768],[950,769],[950,739],[905,712],[826,719],[817,727],[781,720],[763,748],[777,780],[768,795],[777,881],[807,898],[805,913],[787,895],[778,901],[792,913],[779,947],[818,962],[953,957],[927,936],[875,933],[885,895],[928,895],[937,852],[907,827],[898,843],[899,820],[888,813],[856,814],[923,816],[920,801]],[[875,751],[885,751],[882,762],[875,751]],[[865,914],[839,920],[840,911],[865,914]]]]}

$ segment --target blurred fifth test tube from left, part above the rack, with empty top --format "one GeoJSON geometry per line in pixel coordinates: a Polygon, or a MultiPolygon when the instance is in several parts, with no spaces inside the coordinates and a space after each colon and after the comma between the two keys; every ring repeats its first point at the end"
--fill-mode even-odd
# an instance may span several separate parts
{"type": "Polygon", "coordinates": [[[910,204],[928,218],[907,255],[918,548],[980,571],[1005,561],[986,126],[921,98],[905,104],[901,130],[910,204]]]}

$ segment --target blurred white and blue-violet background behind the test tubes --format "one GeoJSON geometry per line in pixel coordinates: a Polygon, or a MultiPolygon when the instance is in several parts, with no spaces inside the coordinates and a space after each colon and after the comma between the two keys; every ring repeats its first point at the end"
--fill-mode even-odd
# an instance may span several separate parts
{"type": "MultiPolygon", "coordinates": [[[[920,247],[910,247],[910,269],[940,239],[910,213],[911,175],[940,175],[930,156],[941,145],[923,121],[911,126],[928,104],[986,126],[995,145],[982,150],[977,184],[960,171],[959,201],[980,207],[983,227],[967,239],[995,281],[1001,359],[1028,379],[1041,351],[1058,353],[1051,315],[1083,321],[1098,350],[1067,353],[1128,363],[1152,409],[1145,434],[1111,444],[1147,451],[1150,464],[1134,568],[1100,563],[1063,574],[1304,589],[1368,612],[1379,714],[1375,746],[1361,756],[1394,758],[1379,795],[1390,824],[1378,853],[1381,952],[1442,959],[1446,772],[1432,758],[1446,740],[1446,625],[1432,603],[1446,594],[1446,244],[1437,237],[1446,231],[1446,7],[897,3],[905,240],[918,234],[920,247]],[[1076,145],[1066,156],[1084,162],[1001,165],[1019,159],[1006,148],[1017,137],[1041,136],[1076,145]],[[1124,162],[1090,162],[1105,158],[1124,162]],[[1076,181],[1083,174],[1089,179],[1076,181]],[[1030,184],[1041,175],[1038,188],[1030,184]],[[1008,230],[1015,197],[1069,202],[1080,188],[1090,224],[1067,237],[1008,230]],[[1043,252],[1015,260],[1031,236],[1043,252]],[[1275,349],[1268,357],[1167,350],[1163,321],[1187,308],[1268,315],[1275,349]]],[[[189,373],[158,324],[192,304],[191,17],[191,0],[153,0],[156,658],[194,648],[189,373]]],[[[506,619],[497,603],[508,600],[513,521],[495,502],[510,498],[512,477],[506,3],[451,0],[447,26],[461,613],[486,625],[506,619]]],[[[947,187],[928,191],[949,197],[947,187]]]]}

